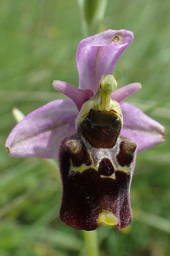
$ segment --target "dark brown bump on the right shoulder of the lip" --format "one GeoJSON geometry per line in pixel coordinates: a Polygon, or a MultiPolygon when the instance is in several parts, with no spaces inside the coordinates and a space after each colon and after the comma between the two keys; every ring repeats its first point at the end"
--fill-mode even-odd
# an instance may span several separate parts
{"type": "Polygon", "coordinates": [[[122,140],[120,143],[120,151],[116,159],[120,166],[130,166],[133,161],[133,154],[136,151],[136,143],[127,139],[122,140]]]}

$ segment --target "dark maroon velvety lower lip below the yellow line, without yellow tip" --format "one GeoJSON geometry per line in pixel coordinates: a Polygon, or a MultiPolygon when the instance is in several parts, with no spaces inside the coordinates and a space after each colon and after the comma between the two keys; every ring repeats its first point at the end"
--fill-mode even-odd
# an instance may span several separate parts
{"type": "Polygon", "coordinates": [[[119,218],[117,229],[126,227],[132,220],[130,174],[116,171],[115,175],[116,180],[103,178],[92,168],[69,172],[66,183],[63,181],[62,221],[75,229],[95,230],[99,213],[108,210],[119,218]]]}

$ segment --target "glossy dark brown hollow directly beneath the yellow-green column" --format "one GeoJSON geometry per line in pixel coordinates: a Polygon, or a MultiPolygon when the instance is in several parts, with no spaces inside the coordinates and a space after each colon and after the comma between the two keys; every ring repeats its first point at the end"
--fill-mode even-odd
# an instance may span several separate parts
{"type": "Polygon", "coordinates": [[[91,109],[81,123],[82,135],[94,148],[112,148],[122,128],[118,114],[91,109]]]}

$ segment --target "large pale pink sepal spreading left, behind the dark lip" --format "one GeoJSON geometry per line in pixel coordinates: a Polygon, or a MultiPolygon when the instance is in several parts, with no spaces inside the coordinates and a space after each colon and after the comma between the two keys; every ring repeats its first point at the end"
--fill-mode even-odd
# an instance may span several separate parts
{"type": "Polygon", "coordinates": [[[78,111],[72,100],[59,99],[26,116],[11,131],[6,147],[12,157],[57,158],[62,140],[76,132],[78,111]]]}

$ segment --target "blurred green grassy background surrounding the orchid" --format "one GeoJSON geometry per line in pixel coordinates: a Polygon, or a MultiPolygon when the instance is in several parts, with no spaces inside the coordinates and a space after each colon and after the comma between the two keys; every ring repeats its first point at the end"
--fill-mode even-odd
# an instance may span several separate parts
{"type": "MultiPolygon", "coordinates": [[[[118,86],[141,82],[127,99],[166,128],[161,145],[137,156],[131,186],[133,222],[101,225],[101,256],[170,255],[170,3],[108,0],[100,26],[135,39],[116,64],[118,86]]],[[[97,31],[96,31],[97,32],[97,31]]],[[[0,1],[0,256],[83,256],[83,237],[59,219],[61,187],[38,159],[9,157],[12,108],[28,114],[62,96],[54,79],[78,85],[83,38],[76,0],[0,1]]]]}

